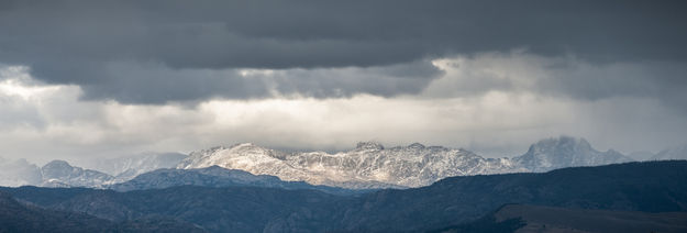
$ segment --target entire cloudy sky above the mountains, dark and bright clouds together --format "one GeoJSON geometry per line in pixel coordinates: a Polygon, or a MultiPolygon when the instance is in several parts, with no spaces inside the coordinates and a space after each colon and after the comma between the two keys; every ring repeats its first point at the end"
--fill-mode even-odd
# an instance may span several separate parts
{"type": "Polygon", "coordinates": [[[0,157],[687,143],[684,1],[0,0],[0,157]]]}

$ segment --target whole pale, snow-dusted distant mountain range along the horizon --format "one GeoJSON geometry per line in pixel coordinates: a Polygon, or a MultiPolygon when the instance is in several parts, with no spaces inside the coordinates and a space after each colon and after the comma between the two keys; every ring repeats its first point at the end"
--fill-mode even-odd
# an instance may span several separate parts
{"type": "MultiPolygon", "coordinates": [[[[654,159],[679,158],[685,155],[684,149],[666,149],[655,155],[654,159]]],[[[424,146],[419,143],[385,148],[378,143],[364,142],[354,149],[335,154],[287,153],[243,143],[201,149],[189,156],[166,153],[91,162],[90,166],[98,169],[71,166],[64,160],[54,160],[43,167],[26,160],[2,160],[0,166],[7,169],[0,171],[0,185],[107,188],[160,168],[188,170],[218,166],[253,175],[269,175],[284,181],[306,181],[347,189],[379,189],[422,187],[453,176],[542,173],[631,160],[617,151],[599,152],[586,140],[569,136],[542,140],[532,144],[527,153],[511,158],[485,158],[462,148],[424,146]]],[[[174,173],[181,171],[168,170],[166,175],[174,173]]],[[[147,175],[147,179],[151,176],[147,175]]]]}

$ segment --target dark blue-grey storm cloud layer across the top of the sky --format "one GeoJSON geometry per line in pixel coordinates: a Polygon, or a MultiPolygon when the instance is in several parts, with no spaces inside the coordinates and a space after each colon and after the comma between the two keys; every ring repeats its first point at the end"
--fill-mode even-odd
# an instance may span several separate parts
{"type": "Polygon", "coordinates": [[[269,88],[395,96],[439,74],[395,66],[454,54],[525,48],[594,63],[684,64],[686,9],[684,1],[0,0],[0,63],[79,85],[87,99],[123,102],[261,98],[269,88]],[[346,67],[384,74],[322,74],[346,67]],[[266,80],[239,68],[295,71],[266,80]]]}

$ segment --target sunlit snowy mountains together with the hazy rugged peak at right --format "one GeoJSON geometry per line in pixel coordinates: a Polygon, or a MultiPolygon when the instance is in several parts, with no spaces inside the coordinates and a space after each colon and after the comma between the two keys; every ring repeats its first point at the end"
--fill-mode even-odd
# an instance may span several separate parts
{"type": "Polygon", "coordinates": [[[336,154],[285,153],[244,143],[193,152],[177,168],[220,166],[284,180],[358,189],[388,188],[389,185],[423,187],[453,176],[541,173],[631,160],[612,149],[598,152],[584,138],[561,136],[542,140],[525,154],[512,158],[485,158],[461,148],[419,143],[391,148],[378,143],[358,143],[355,149],[336,154]]]}

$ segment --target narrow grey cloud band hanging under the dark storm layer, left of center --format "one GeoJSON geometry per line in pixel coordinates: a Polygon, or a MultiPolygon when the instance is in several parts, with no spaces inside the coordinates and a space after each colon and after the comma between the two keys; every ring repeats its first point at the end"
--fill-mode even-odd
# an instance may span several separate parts
{"type": "Polygon", "coordinates": [[[115,98],[122,103],[151,104],[192,102],[214,97],[266,98],[274,95],[340,98],[375,93],[392,97],[418,93],[442,74],[426,60],[384,67],[267,71],[173,69],[159,64],[110,63],[93,71],[98,71],[101,80],[81,84],[85,91],[81,99],[115,98]]]}

